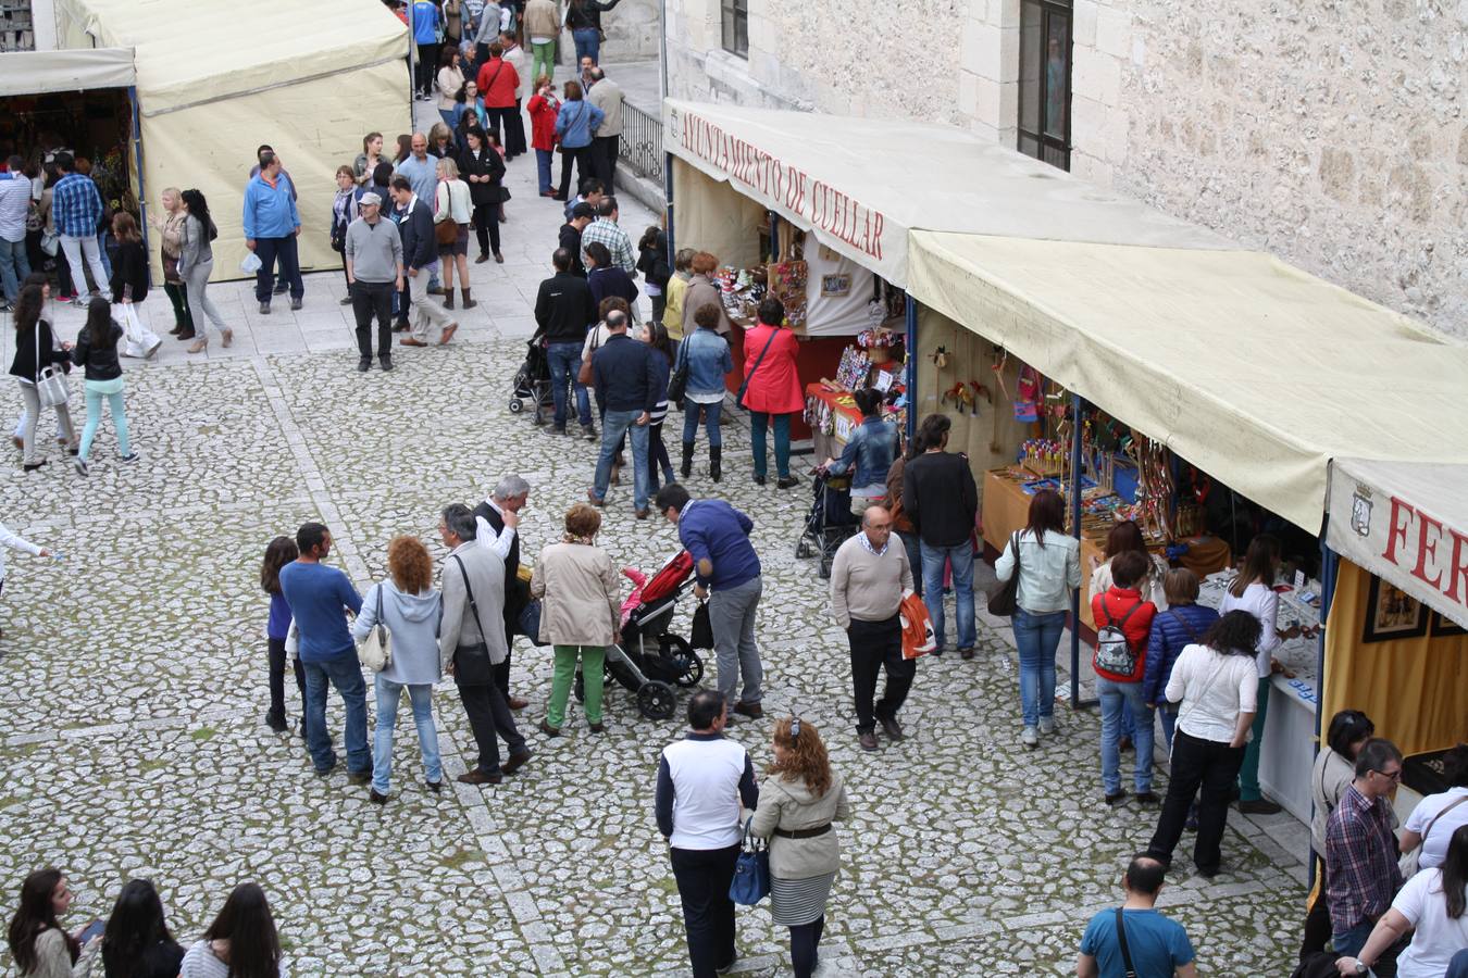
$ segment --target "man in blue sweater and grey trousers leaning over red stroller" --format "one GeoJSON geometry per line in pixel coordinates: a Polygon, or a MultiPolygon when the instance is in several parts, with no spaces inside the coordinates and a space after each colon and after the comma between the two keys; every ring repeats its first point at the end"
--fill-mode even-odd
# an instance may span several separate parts
{"type": "Polygon", "coordinates": [[[678,526],[678,543],[693,557],[694,597],[709,598],[719,692],[734,699],[743,673],[744,695],[734,704],[734,713],[765,716],[759,705],[765,667],[755,644],[755,611],[763,584],[759,556],[749,543],[753,521],[721,499],[690,499],[678,482],[658,490],[658,512],[678,526]]]}

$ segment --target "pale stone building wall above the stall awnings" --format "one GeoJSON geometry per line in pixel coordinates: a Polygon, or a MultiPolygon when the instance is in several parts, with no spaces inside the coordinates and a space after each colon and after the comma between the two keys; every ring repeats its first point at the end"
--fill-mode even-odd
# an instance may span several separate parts
{"type": "MultiPolygon", "coordinates": [[[[675,95],[1014,145],[1019,0],[668,0],[675,95]],[[898,16],[891,16],[898,12],[898,16]]],[[[1468,0],[1075,0],[1072,172],[1468,339],[1468,0]]]]}

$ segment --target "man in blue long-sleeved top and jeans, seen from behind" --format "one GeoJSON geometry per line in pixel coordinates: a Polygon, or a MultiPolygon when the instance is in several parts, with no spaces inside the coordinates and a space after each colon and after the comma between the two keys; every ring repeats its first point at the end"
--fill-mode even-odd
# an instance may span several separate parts
{"type": "Polygon", "coordinates": [[[346,707],[346,774],[354,784],[371,780],[367,749],[367,685],[357,664],[357,645],[346,630],[346,611],[357,614],[361,595],[336,567],[321,563],[332,550],[332,532],[321,523],[302,523],[295,532],[301,556],[280,567],[280,594],[291,606],[305,670],[305,746],[316,773],[336,767],[332,738],[326,733],[326,685],[336,686],[346,707]]]}

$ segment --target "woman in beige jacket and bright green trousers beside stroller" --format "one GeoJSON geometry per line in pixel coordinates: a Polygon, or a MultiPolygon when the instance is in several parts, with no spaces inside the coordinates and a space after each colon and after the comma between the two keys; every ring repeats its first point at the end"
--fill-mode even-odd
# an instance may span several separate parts
{"type": "Polygon", "coordinates": [[[552,738],[561,736],[577,658],[586,680],[586,723],[592,733],[602,732],[602,664],[606,647],[621,641],[621,603],[617,567],[593,543],[600,528],[600,510],[577,503],[565,513],[561,543],[540,551],[530,575],[530,597],[540,598],[540,641],[555,647],[550,702],[540,721],[540,732],[552,738]]]}

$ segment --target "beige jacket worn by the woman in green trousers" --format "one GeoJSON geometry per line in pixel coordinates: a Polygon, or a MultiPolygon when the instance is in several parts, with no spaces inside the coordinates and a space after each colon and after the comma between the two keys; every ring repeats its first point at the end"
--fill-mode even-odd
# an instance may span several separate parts
{"type": "Polygon", "coordinates": [[[530,575],[540,601],[540,641],[552,645],[611,645],[621,626],[617,567],[600,547],[550,544],[530,575]]]}

